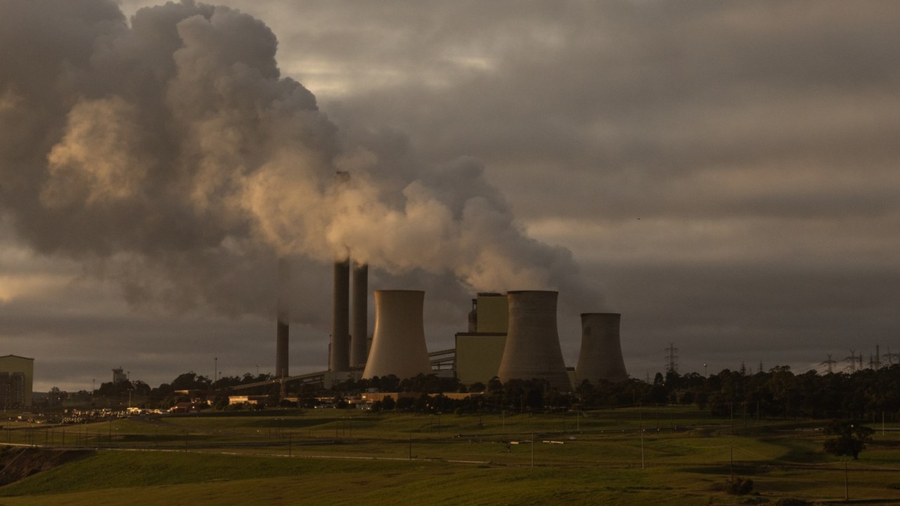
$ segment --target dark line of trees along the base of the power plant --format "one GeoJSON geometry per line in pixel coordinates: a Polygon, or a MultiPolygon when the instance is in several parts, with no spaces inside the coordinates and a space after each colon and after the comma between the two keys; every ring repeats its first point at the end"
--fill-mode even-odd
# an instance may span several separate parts
{"type": "MultiPolygon", "coordinates": [[[[224,376],[213,382],[207,376],[189,372],[157,387],[150,387],[139,380],[104,383],[95,394],[108,399],[123,399],[132,395],[143,399],[148,405],[166,407],[185,400],[179,391],[205,391],[221,397],[227,395],[230,387],[271,379],[272,375],[247,373],[224,376]]],[[[299,389],[291,393],[298,395],[302,403],[304,399],[308,401],[327,395],[335,396],[339,402],[371,389],[420,393],[424,394],[423,399],[440,393],[477,394],[473,395],[472,401],[446,402],[446,406],[440,407],[435,407],[436,402],[433,401],[413,402],[411,405],[408,405],[410,401],[402,401],[401,409],[424,409],[427,403],[429,409],[444,411],[477,407],[480,410],[531,412],[576,404],[581,409],[682,404],[696,405],[698,410],[724,418],[740,414],[765,418],[881,420],[884,416],[893,421],[900,417],[900,365],[862,369],[851,374],[824,375],[815,370],[797,375],[788,366],[777,366],[757,373],[725,369],[708,376],[669,372],[666,375],[656,374],[652,382],[636,378],[615,384],[583,381],[576,385],[572,393],[558,392],[540,379],[513,379],[504,384],[493,378],[487,384],[466,386],[455,378],[437,375],[402,379],[388,375],[348,380],[329,390],[311,385],[293,388],[299,389]]],[[[269,385],[258,387],[255,393],[275,392],[276,386],[269,385]]]]}

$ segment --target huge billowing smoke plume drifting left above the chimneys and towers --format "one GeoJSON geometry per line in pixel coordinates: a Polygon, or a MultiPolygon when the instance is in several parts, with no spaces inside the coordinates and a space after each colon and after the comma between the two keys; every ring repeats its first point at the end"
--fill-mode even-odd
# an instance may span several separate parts
{"type": "Polygon", "coordinates": [[[130,20],[107,0],[0,0],[0,212],[36,251],[176,311],[272,312],[258,280],[277,258],[347,251],[384,276],[596,303],[570,252],[527,237],[481,162],[392,171],[379,148],[345,146],[280,75],[276,47],[257,19],[191,0],[130,20]],[[351,179],[336,189],[338,170],[351,179]]]}

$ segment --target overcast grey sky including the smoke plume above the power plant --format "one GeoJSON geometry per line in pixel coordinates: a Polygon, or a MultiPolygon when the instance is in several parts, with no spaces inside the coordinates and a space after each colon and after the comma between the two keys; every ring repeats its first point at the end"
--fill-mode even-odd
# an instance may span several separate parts
{"type": "Polygon", "coordinates": [[[0,0],[0,354],[36,390],[271,372],[277,258],[320,370],[347,249],[426,290],[430,349],[544,288],[570,366],[598,311],[641,378],[900,352],[900,4],[221,4],[0,0]]]}

